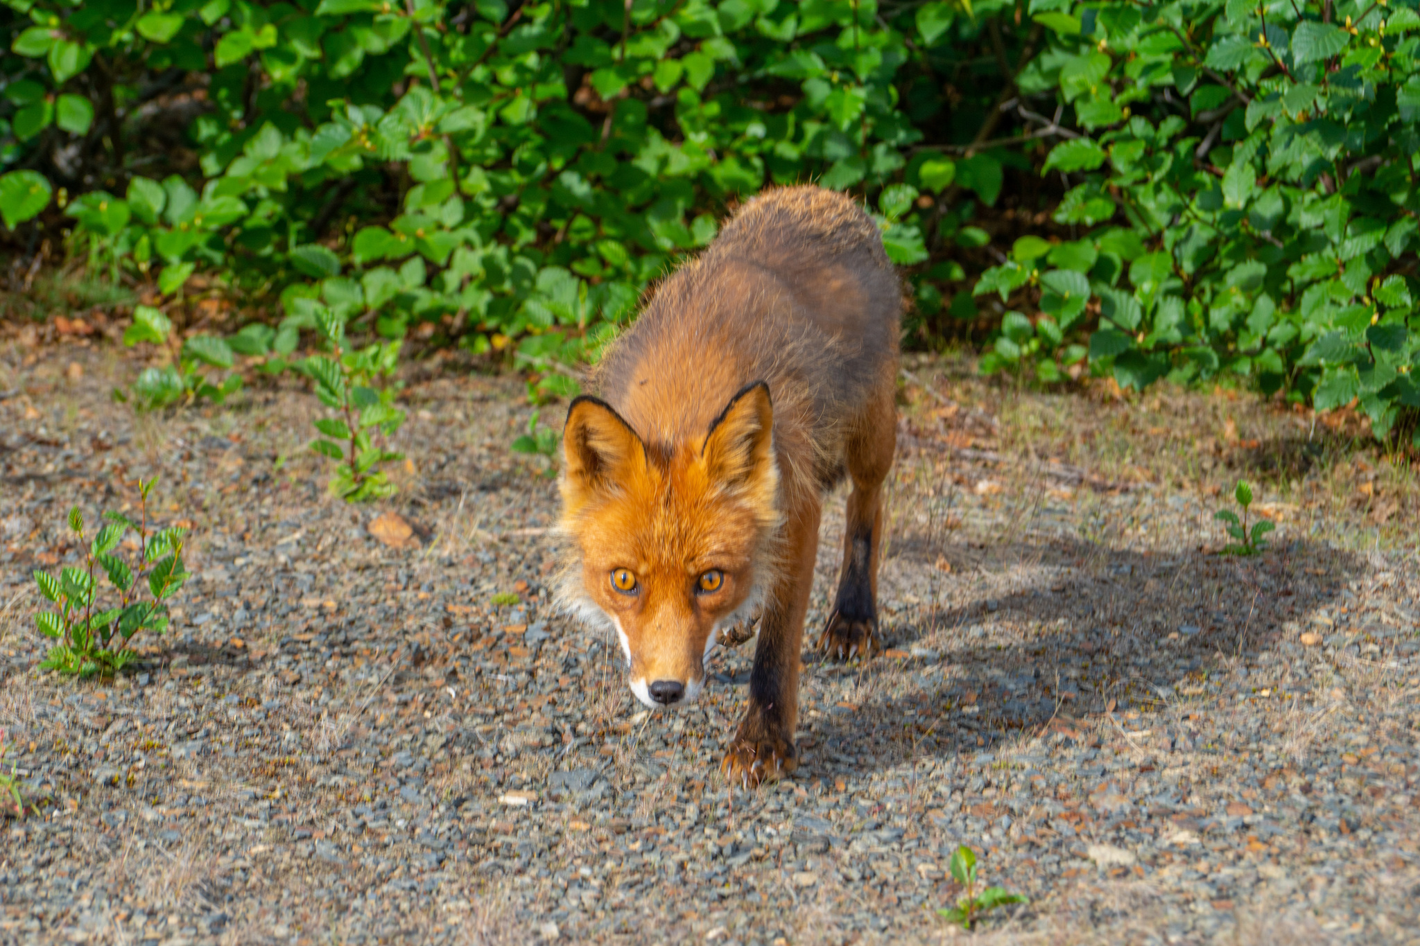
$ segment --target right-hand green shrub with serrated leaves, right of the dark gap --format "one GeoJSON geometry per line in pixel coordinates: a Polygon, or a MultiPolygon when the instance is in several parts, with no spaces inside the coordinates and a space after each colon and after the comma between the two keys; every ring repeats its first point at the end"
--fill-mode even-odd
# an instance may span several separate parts
{"type": "Polygon", "coordinates": [[[1420,407],[1410,6],[1032,3],[1052,34],[1032,82],[1082,129],[1044,163],[1069,184],[1054,218],[1083,233],[983,275],[977,294],[1039,294],[984,367],[1058,379],[1098,306],[1091,369],[1123,387],[1231,376],[1356,401],[1379,437],[1420,407]]]}

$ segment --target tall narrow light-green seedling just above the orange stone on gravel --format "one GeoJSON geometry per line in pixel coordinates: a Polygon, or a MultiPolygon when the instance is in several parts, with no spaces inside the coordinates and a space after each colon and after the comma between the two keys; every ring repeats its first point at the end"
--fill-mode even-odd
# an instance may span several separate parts
{"type": "Polygon", "coordinates": [[[378,467],[405,458],[386,450],[388,437],[405,423],[405,411],[395,407],[396,386],[376,384],[395,373],[399,342],[348,347],[344,319],[329,309],[315,318],[329,356],[308,357],[301,369],[315,382],[321,403],[341,416],[315,421],[315,430],[331,440],[317,437],[311,450],[335,461],[329,489],[337,496],[346,502],[390,496],[395,484],[378,467]]]}

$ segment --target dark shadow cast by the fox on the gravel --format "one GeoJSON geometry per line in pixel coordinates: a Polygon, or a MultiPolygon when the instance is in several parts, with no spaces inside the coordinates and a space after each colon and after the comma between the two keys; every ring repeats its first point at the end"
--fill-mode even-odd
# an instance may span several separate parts
{"type": "Polygon", "coordinates": [[[1039,735],[1056,716],[1157,711],[1180,692],[1218,696],[1201,688],[1207,674],[1238,655],[1299,650],[1296,625],[1323,611],[1365,564],[1305,542],[1251,559],[1102,553],[1074,540],[1003,546],[993,557],[1035,563],[1047,577],[941,608],[917,625],[889,624],[888,645],[913,657],[876,660],[899,662],[917,685],[801,723],[801,742],[818,746],[801,777],[826,774],[815,772],[831,767],[825,756],[899,764],[923,753],[988,750],[1022,730],[1039,735]],[[1066,569],[1069,577],[1048,577],[1066,569]]]}

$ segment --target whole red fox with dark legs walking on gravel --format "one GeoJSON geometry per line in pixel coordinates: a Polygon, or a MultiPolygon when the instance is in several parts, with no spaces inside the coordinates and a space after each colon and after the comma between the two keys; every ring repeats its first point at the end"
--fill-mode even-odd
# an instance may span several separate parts
{"type": "Polygon", "coordinates": [[[882,482],[896,445],[902,289],[848,197],[744,204],[659,285],[564,428],[562,600],[616,631],[650,708],[693,701],[720,631],[758,613],[744,719],[721,770],[797,764],[799,650],[824,495],[846,475],[843,564],[818,647],[878,645],[882,482]]]}

